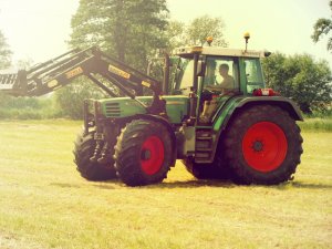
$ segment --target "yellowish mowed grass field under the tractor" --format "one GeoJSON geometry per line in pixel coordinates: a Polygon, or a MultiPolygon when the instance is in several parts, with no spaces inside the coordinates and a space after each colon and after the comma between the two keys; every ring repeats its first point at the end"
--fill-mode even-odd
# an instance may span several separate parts
{"type": "Polygon", "coordinates": [[[293,181],[158,185],[81,178],[81,122],[0,122],[0,248],[332,248],[332,133],[304,132],[293,181]]]}

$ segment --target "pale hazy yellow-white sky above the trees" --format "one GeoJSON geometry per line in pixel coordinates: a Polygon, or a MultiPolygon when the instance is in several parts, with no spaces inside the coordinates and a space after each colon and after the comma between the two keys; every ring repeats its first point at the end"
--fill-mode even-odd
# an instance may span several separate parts
{"type": "MultiPolygon", "coordinates": [[[[190,22],[209,14],[226,24],[229,48],[242,49],[242,34],[251,34],[249,49],[293,55],[308,53],[326,60],[328,39],[313,43],[313,24],[331,19],[329,0],[167,0],[170,19],[190,22]]],[[[0,0],[0,30],[13,51],[13,61],[43,62],[68,51],[71,17],[79,0],[0,0]]]]}

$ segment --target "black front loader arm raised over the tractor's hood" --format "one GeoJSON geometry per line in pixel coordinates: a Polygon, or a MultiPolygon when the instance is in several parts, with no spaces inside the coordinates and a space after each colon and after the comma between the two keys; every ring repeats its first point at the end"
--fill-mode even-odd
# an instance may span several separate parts
{"type": "Polygon", "coordinates": [[[111,96],[116,94],[96,75],[132,98],[143,95],[143,87],[151,89],[154,92],[154,106],[149,110],[157,110],[158,113],[164,111],[165,103],[159,98],[162,84],[158,81],[108,56],[96,46],[71,50],[15,74],[0,74],[0,91],[14,96],[40,96],[70,84],[81,75],[85,75],[111,96]]]}

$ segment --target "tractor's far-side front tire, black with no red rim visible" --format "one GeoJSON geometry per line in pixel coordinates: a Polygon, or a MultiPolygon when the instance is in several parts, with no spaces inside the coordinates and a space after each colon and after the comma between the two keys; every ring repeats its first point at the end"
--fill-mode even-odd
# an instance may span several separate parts
{"type": "Polygon", "coordinates": [[[74,163],[76,164],[76,169],[80,172],[82,177],[93,181],[117,178],[114,162],[111,162],[107,165],[101,165],[96,162],[90,160],[94,154],[96,145],[94,132],[86,135],[84,135],[83,132],[80,133],[74,144],[74,163]]]}

